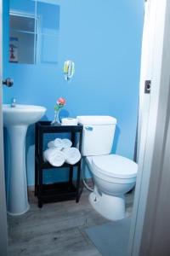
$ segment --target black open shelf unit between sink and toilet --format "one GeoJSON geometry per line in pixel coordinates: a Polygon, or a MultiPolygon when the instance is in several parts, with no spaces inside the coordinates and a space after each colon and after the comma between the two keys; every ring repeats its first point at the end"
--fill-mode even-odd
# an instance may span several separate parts
{"type": "MultiPolygon", "coordinates": [[[[38,207],[42,207],[43,203],[54,201],[79,201],[82,194],[81,181],[81,160],[75,165],[64,164],[63,166],[51,166],[48,162],[43,160],[43,135],[47,133],[70,133],[72,146],[76,147],[77,135],[79,141],[79,150],[82,148],[82,125],[51,125],[51,121],[39,121],[35,126],[35,195],[38,200],[38,207]],[[43,171],[45,169],[57,169],[66,167],[69,168],[69,180],[62,183],[43,183],[43,171]],[[77,167],[76,184],[73,183],[73,169],[77,167]]],[[[49,170],[50,172],[50,170],[49,170]]]]}

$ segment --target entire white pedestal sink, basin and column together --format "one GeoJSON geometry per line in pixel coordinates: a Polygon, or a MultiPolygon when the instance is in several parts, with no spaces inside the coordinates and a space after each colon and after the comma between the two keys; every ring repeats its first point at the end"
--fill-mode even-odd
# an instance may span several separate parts
{"type": "Polygon", "coordinates": [[[20,215],[28,211],[26,181],[26,131],[28,125],[42,118],[46,108],[31,105],[19,105],[11,108],[3,105],[3,125],[7,127],[8,185],[7,211],[11,215],[20,215]]]}

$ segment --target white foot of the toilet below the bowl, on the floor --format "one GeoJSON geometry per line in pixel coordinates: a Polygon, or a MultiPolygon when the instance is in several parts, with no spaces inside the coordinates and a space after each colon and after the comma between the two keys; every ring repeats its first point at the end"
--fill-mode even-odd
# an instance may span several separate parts
{"type": "Polygon", "coordinates": [[[99,195],[98,191],[94,189],[94,192],[89,195],[88,199],[94,210],[103,217],[110,220],[125,218],[125,199],[123,195],[120,197],[104,193],[99,195]]]}

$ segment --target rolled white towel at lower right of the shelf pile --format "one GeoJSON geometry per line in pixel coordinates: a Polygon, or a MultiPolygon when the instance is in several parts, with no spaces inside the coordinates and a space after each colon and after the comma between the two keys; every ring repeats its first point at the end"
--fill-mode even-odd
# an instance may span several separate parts
{"type": "Polygon", "coordinates": [[[67,164],[75,165],[81,159],[80,151],[77,148],[65,148],[62,152],[65,154],[67,164]]]}

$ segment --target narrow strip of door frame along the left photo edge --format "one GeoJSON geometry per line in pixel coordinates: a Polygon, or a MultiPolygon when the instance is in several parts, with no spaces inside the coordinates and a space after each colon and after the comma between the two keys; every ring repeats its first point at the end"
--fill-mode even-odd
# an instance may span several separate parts
{"type": "Polygon", "coordinates": [[[3,161],[3,0],[0,0],[0,253],[7,255],[7,211],[3,161]]]}

